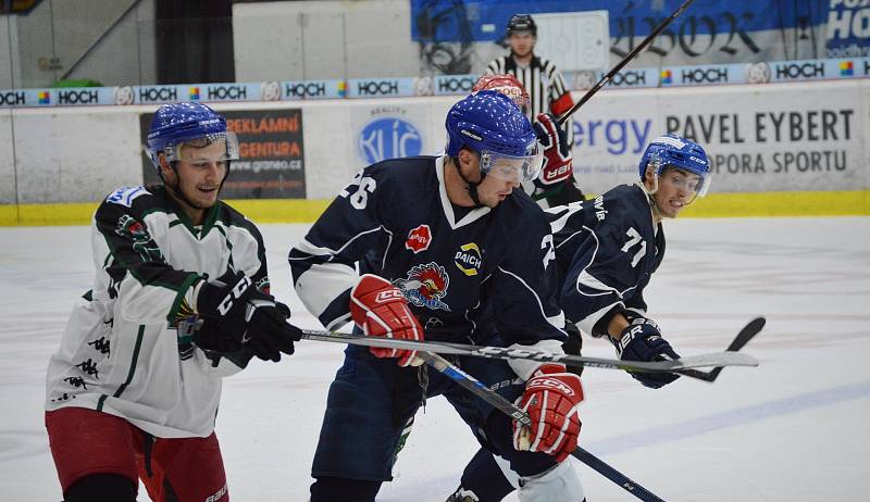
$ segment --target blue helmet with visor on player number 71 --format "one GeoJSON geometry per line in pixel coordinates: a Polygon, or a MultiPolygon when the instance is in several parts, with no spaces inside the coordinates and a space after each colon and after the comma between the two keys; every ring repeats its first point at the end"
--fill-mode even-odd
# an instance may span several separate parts
{"type": "Polygon", "coordinates": [[[698,197],[706,196],[710,188],[710,161],[707,159],[707,152],[695,141],[672,133],[659,136],[646,147],[641,159],[642,180],[650,164],[655,166],[656,176],[659,176],[666,167],[676,167],[698,175],[700,180],[695,189],[698,197]]]}

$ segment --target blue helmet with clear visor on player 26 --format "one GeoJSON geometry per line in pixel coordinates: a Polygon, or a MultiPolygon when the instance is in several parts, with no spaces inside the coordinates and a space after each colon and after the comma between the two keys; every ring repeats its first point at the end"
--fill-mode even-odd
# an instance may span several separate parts
{"type": "Polygon", "coordinates": [[[447,154],[462,148],[481,155],[481,172],[509,181],[537,177],[543,153],[529,118],[510,98],[481,90],[460,100],[447,112],[447,154]]]}

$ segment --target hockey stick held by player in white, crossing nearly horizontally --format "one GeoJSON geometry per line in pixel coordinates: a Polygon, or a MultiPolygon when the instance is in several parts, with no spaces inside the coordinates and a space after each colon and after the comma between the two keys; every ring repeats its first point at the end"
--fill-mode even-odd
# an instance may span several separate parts
{"type": "Polygon", "coordinates": [[[709,366],[758,366],[758,361],[756,361],[755,357],[738,352],[716,352],[711,354],[689,355],[674,361],[641,362],[558,354],[531,347],[527,349],[511,349],[506,347],[469,346],[444,341],[414,341],[308,329],[302,330],[302,338],[337,343],[351,343],[356,346],[428,351],[440,354],[474,355],[488,359],[523,359],[537,362],[563,363],[572,366],[625,369],[644,373],[674,373],[681,369],[709,366]]]}

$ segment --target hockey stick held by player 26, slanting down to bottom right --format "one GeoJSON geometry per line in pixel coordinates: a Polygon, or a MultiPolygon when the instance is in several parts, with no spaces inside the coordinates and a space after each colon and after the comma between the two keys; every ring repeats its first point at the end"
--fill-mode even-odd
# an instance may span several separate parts
{"type": "MultiPolygon", "coordinates": [[[[492,404],[500,412],[513,417],[523,426],[532,426],[532,419],[529,418],[529,415],[519,406],[508,401],[493,389],[486,387],[473,376],[451,364],[446,359],[432,352],[418,352],[417,356],[425,361],[426,364],[435,368],[442,375],[445,375],[460,386],[464,387],[471,393],[492,404]]],[[[571,454],[584,464],[592,467],[594,470],[598,472],[598,474],[622,487],[625,491],[630,492],[634,497],[648,502],[664,502],[662,499],[656,497],[655,493],[633,481],[627,476],[611,467],[602,460],[598,459],[586,450],[577,447],[571,454]]]]}

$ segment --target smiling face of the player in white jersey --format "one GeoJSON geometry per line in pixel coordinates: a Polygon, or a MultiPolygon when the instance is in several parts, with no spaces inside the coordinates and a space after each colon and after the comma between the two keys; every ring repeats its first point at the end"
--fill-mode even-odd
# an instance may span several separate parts
{"type": "Polygon", "coordinates": [[[175,171],[163,172],[166,184],[178,192],[178,202],[195,222],[217,202],[217,192],[227,170],[225,154],[226,143],[223,141],[202,148],[185,145],[175,171]]]}

